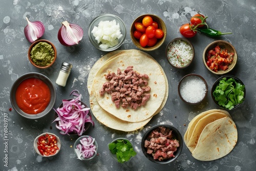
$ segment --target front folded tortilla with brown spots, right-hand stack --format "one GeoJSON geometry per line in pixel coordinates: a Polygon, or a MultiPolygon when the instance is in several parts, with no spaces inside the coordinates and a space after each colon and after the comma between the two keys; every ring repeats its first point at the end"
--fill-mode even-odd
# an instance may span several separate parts
{"type": "Polygon", "coordinates": [[[237,143],[236,124],[229,117],[207,124],[192,156],[201,161],[216,160],[229,154],[237,143]]]}

